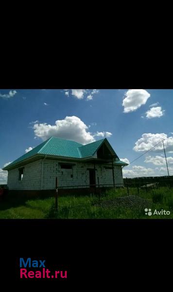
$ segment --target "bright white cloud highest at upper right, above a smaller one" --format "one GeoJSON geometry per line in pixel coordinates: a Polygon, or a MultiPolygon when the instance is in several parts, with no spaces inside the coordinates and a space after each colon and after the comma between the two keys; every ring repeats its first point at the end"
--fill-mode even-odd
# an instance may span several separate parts
{"type": "Polygon", "coordinates": [[[143,89],[130,89],[125,92],[125,97],[122,102],[124,112],[137,110],[142,105],[145,105],[150,93],[143,89]]]}

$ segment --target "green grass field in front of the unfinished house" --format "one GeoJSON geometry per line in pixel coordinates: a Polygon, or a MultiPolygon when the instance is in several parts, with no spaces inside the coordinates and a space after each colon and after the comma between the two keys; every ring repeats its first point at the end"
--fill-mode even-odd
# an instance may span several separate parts
{"type": "Polygon", "coordinates": [[[62,196],[58,199],[58,212],[54,211],[54,198],[47,199],[6,199],[0,202],[0,219],[170,219],[173,218],[173,188],[160,187],[155,190],[109,190],[97,196],[62,196]],[[133,196],[133,198],[131,198],[133,196]],[[113,204],[117,198],[121,203],[113,204]],[[125,199],[124,199],[125,198],[125,199]],[[128,203],[128,198],[130,204],[128,203]],[[144,205],[137,199],[145,199],[144,205]],[[123,204],[124,201],[124,204],[123,204]],[[135,201],[137,202],[135,204],[135,201]],[[107,203],[108,202],[108,203],[107,203]],[[146,202],[146,206],[145,206],[146,202]],[[149,207],[148,207],[149,206],[149,207]],[[145,215],[145,207],[155,211],[170,211],[170,215],[145,215]]]}

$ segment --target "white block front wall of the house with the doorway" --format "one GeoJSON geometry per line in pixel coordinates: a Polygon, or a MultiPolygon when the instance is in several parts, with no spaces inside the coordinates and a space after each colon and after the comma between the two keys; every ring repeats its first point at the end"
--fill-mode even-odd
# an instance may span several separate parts
{"type": "MultiPolygon", "coordinates": [[[[43,168],[43,190],[54,189],[55,179],[58,177],[58,186],[75,186],[89,187],[89,171],[87,168],[93,168],[93,164],[75,162],[72,169],[63,169],[58,164],[65,161],[46,159],[43,168]]],[[[67,162],[68,163],[68,162],[67,162]]],[[[105,165],[96,164],[96,183],[99,177],[100,185],[113,186],[112,169],[105,169],[105,165]]],[[[114,166],[114,177],[117,186],[123,185],[121,166],[114,166]]]]}

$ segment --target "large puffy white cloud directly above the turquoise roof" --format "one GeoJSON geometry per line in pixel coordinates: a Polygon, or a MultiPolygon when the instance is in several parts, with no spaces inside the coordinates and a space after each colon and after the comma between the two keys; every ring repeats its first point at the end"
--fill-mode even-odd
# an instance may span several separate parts
{"type": "Polygon", "coordinates": [[[35,136],[42,140],[54,136],[76,141],[81,144],[95,141],[93,135],[87,131],[87,125],[76,116],[67,116],[64,120],[57,120],[55,121],[55,125],[47,125],[47,123],[35,124],[33,128],[35,136]]]}

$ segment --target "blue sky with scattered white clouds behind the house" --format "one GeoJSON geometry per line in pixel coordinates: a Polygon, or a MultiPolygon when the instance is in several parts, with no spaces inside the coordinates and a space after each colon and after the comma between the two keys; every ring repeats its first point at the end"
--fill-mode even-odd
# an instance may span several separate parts
{"type": "Polygon", "coordinates": [[[123,177],[173,175],[173,90],[0,90],[0,184],[7,165],[51,136],[88,144],[107,138],[132,164],[123,177]],[[169,139],[168,139],[169,138],[169,139]],[[167,139],[167,140],[166,140],[167,139]]]}

